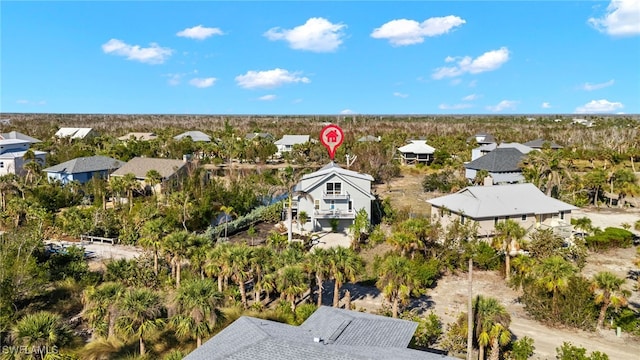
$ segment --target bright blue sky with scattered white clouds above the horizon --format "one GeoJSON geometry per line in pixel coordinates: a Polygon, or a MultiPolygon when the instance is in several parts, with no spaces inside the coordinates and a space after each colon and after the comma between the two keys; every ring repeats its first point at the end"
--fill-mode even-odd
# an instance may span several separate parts
{"type": "Polygon", "coordinates": [[[3,0],[0,16],[1,112],[640,113],[640,0],[3,0]]]}

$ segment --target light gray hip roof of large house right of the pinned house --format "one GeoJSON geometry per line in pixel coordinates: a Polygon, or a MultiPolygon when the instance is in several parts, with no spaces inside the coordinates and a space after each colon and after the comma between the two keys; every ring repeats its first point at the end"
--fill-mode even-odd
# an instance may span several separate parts
{"type": "MultiPolygon", "coordinates": [[[[486,155],[485,155],[486,156],[486,155]]],[[[472,219],[528,214],[555,214],[577,207],[545,195],[530,183],[469,186],[455,194],[427,200],[472,219]]]]}

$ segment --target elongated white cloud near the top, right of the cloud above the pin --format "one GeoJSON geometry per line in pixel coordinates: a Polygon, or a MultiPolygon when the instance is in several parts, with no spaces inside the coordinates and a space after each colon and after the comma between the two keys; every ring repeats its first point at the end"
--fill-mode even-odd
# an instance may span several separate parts
{"type": "Polygon", "coordinates": [[[393,46],[420,44],[425,37],[443,35],[466,21],[458,16],[432,17],[421,23],[415,20],[391,20],[371,33],[374,39],[387,39],[393,46]]]}

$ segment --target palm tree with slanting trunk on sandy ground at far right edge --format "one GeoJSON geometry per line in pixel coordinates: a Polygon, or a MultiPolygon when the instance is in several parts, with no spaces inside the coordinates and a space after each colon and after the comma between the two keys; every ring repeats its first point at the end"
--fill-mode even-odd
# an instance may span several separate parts
{"type": "Polygon", "coordinates": [[[602,329],[604,317],[609,306],[617,309],[627,304],[627,297],[631,295],[631,292],[622,289],[624,283],[625,279],[619,278],[608,271],[599,272],[593,277],[591,289],[596,292],[595,302],[596,304],[602,304],[600,315],[598,315],[597,329],[602,329]]]}

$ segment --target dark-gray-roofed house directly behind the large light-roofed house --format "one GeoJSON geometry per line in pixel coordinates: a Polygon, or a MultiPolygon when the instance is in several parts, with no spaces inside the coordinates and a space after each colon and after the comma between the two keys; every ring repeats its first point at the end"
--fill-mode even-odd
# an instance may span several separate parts
{"type": "Polygon", "coordinates": [[[478,171],[486,170],[494,184],[524,181],[520,163],[526,155],[512,147],[497,148],[484,156],[464,164],[465,177],[474,181],[478,171]]]}

